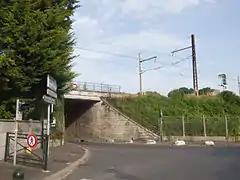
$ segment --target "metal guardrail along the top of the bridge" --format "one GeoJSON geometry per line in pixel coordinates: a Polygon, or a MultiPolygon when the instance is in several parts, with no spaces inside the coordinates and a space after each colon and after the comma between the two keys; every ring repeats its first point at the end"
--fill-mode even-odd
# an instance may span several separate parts
{"type": "Polygon", "coordinates": [[[73,90],[120,93],[121,86],[92,82],[74,82],[73,90]]]}

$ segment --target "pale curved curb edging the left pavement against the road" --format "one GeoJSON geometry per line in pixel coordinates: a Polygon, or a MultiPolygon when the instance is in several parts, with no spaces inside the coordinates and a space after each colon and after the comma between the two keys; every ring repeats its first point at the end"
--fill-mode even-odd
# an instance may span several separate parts
{"type": "Polygon", "coordinates": [[[80,164],[84,164],[88,161],[88,159],[91,156],[90,151],[82,146],[79,146],[81,148],[83,148],[84,150],[84,155],[83,157],[81,157],[80,159],[72,162],[69,166],[59,170],[58,172],[44,178],[43,180],[62,180],[65,179],[68,175],[70,175],[72,173],[72,171],[74,171],[75,169],[77,169],[77,166],[80,164]]]}

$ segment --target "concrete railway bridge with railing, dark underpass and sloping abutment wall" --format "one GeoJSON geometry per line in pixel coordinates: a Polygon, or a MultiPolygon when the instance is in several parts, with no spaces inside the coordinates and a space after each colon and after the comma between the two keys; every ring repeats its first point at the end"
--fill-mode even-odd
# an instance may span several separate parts
{"type": "Polygon", "coordinates": [[[149,139],[156,137],[136,122],[121,114],[101,97],[122,97],[120,87],[85,83],[74,84],[65,98],[65,140],[84,141],[149,139]]]}

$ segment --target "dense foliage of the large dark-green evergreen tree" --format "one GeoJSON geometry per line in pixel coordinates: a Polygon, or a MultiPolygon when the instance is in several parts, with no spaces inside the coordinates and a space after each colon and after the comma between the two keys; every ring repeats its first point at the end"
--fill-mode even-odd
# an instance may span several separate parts
{"type": "Polygon", "coordinates": [[[62,96],[77,75],[70,30],[78,0],[1,0],[0,7],[0,103],[12,110],[16,98],[41,99],[47,74],[62,96]]]}

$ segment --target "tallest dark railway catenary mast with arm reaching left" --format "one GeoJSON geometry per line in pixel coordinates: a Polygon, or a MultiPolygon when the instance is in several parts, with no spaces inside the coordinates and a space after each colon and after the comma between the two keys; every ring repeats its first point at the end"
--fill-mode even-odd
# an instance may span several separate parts
{"type": "Polygon", "coordinates": [[[196,58],[196,45],[195,45],[195,35],[191,34],[191,46],[178,49],[172,52],[172,55],[176,52],[184,51],[187,49],[192,49],[192,69],[193,69],[193,89],[195,96],[198,96],[198,75],[197,75],[197,58],[196,58]]]}

